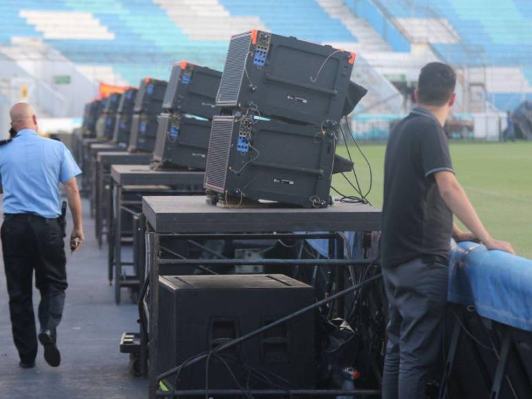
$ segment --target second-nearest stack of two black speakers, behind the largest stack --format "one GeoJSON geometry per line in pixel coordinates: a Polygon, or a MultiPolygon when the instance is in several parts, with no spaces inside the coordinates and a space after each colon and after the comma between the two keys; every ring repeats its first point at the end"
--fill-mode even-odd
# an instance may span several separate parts
{"type": "Polygon", "coordinates": [[[205,169],[222,72],[175,63],[159,117],[153,161],[158,168],[205,169]]]}

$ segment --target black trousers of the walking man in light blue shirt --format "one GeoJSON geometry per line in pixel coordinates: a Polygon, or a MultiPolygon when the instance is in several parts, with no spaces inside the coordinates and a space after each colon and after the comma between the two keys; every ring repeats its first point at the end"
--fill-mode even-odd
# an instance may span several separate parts
{"type": "Polygon", "coordinates": [[[67,289],[65,244],[58,219],[6,215],[1,228],[3,264],[8,283],[14,344],[22,361],[32,363],[37,337],[32,303],[32,277],[41,292],[41,330],[56,334],[67,289]]]}

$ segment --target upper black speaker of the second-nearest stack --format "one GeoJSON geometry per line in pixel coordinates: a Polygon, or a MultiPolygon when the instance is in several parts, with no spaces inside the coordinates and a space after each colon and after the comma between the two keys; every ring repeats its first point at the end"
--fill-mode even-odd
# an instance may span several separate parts
{"type": "Polygon", "coordinates": [[[222,72],[187,61],[172,67],[162,108],[212,119],[222,72]]]}

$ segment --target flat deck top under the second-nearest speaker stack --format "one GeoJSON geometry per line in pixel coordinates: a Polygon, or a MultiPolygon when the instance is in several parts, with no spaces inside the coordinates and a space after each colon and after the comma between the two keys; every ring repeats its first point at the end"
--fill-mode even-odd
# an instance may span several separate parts
{"type": "Polygon", "coordinates": [[[118,186],[203,184],[204,175],[198,171],[152,171],[148,165],[111,166],[111,178],[118,186]]]}

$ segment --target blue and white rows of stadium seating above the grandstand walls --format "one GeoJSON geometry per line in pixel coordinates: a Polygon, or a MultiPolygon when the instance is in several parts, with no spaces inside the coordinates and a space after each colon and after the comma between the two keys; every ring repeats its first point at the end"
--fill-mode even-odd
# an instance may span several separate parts
{"type": "MultiPolygon", "coordinates": [[[[39,39],[131,85],[168,78],[181,59],[222,69],[231,34],[258,28],[367,52],[384,67],[417,65],[411,44],[425,40],[453,65],[519,67],[532,87],[529,0],[0,0],[0,14],[0,45],[39,39]]],[[[497,93],[514,92],[498,87],[507,71],[491,76],[497,93]]]]}

